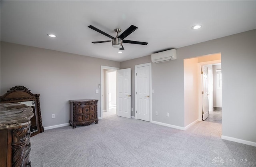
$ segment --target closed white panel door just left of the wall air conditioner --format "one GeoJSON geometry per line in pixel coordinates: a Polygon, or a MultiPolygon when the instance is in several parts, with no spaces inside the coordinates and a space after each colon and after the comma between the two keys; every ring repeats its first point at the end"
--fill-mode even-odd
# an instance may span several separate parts
{"type": "Polygon", "coordinates": [[[136,67],[137,119],[150,121],[150,67],[136,67]]]}

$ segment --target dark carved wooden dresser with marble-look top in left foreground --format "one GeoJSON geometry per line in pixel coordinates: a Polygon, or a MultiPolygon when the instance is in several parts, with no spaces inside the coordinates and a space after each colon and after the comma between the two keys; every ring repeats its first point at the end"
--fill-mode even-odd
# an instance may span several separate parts
{"type": "Polygon", "coordinates": [[[30,167],[30,119],[32,107],[20,103],[2,103],[0,111],[1,167],[30,167]]]}

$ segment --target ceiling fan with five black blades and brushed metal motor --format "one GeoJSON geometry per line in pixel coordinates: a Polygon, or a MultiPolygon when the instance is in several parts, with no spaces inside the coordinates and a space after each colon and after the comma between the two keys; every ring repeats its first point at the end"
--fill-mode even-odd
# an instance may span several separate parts
{"type": "Polygon", "coordinates": [[[95,30],[97,32],[99,32],[100,34],[103,34],[109,38],[111,38],[112,40],[109,41],[96,41],[96,42],[92,42],[94,44],[98,44],[98,43],[104,43],[104,42],[111,42],[112,41],[112,46],[114,48],[118,48],[119,50],[124,50],[123,47],[123,43],[129,43],[129,44],[139,44],[139,45],[147,45],[148,42],[138,42],[138,41],[130,41],[130,40],[124,40],[124,38],[126,38],[128,35],[132,34],[132,32],[134,32],[135,30],[137,30],[138,27],[131,25],[129,28],[127,28],[120,36],[118,36],[118,34],[121,32],[120,28],[116,28],[115,32],[116,32],[116,38],[108,35],[107,33],[99,30],[98,28],[90,25],[88,26],[89,28],[91,28],[92,30],[95,30]]]}

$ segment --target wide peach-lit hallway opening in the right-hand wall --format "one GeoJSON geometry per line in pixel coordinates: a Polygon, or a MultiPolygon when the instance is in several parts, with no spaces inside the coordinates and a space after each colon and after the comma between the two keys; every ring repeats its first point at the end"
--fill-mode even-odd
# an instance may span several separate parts
{"type": "MultiPolygon", "coordinates": [[[[196,121],[202,121],[203,119],[203,104],[206,103],[206,111],[210,116],[214,113],[216,106],[216,99],[222,101],[222,98],[216,97],[216,81],[215,73],[218,65],[221,65],[221,54],[211,54],[207,56],[200,56],[196,58],[184,59],[184,124],[185,127],[196,121]],[[207,88],[208,91],[203,94],[203,78],[202,68],[206,70],[207,74],[207,88]],[[206,95],[203,99],[203,95],[206,95]],[[205,102],[205,103],[204,103],[205,102]]],[[[220,70],[218,68],[218,70],[220,70]]],[[[221,89],[220,89],[221,90],[221,89]]],[[[206,116],[206,115],[205,115],[206,116]]],[[[218,115],[220,116],[220,115],[218,115]]],[[[215,116],[216,117],[216,116],[215,116]]],[[[222,117],[218,117],[221,119],[222,117]]],[[[205,120],[211,120],[205,117],[205,120]]],[[[220,123],[216,122],[216,123],[220,123]]]]}

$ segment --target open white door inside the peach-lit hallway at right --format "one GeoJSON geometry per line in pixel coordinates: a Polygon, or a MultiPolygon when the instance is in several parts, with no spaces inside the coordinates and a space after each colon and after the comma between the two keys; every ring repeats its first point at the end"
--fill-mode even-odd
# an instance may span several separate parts
{"type": "Polygon", "coordinates": [[[209,116],[209,99],[208,99],[208,69],[202,66],[202,119],[209,116]]]}

